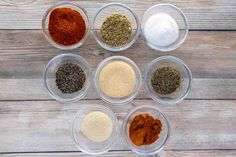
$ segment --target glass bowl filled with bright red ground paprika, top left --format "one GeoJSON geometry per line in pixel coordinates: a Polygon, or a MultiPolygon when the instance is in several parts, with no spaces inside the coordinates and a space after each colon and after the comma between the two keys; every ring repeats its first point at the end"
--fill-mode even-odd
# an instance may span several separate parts
{"type": "Polygon", "coordinates": [[[83,44],[89,28],[86,11],[76,3],[60,2],[50,7],[42,20],[43,33],[59,49],[74,49],[83,44]]]}

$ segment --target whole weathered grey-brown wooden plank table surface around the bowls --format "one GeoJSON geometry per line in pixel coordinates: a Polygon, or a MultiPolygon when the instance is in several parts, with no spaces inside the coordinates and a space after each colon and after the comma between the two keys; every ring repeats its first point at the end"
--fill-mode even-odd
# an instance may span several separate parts
{"type": "MultiPolygon", "coordinates": [[[[141,18],[150,6],[168,2],[188,17],[190,32],[181,48],[155,52],[141,37],[128,50],[111,53],[90,34],[80,54],[93,70],[104,58],[123,55],[144,72],[147,64],[162,55],[185,61],[192,70],[193,87],[177,105],[156,104],[144,91],[130,104],[115,107],[103,103],[93,88],[81,103],[61,104],[44,89],[42,74],[47,62],[63,53],[43,36],[41,19],[57,0],[37,0],[19,6],[0,0],[0,156],[87,156],[70,136],[72,119],[82,105],[98,103],[111,108],[122,122],[134,106],[159,107],[171,122],[172,133],[161,152],[163,157],[236,156],[236,0],[126,0],[141,18]]],[[[92,19],[112,0],[78,1],[92,19]]],[[[118,139],[103,156],[137,156],[118,139]]]]}

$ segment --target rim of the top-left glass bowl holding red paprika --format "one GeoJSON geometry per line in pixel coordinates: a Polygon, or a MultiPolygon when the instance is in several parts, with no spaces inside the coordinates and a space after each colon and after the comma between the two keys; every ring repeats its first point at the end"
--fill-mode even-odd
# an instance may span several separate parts
{"type": "Polygon", "coordinates": [[[88,17],[88,14],[87,14],[87,11],[79,4],[75,3],[75,2],[70,2],[70,1],[62,1],[62,2],[57,2],[56,4],[50,6],[44,13],[43,15],[43,18],[42,18],[42,23],[41,23],[41,26],[42,26],[42,31],[43,31],[43,35],[44,37],[46,38],[46,40],[54,47],[58,48],[58,49],[61,49],[61,50],[72,50],[72,49],[75,49],[75,48],[78,48],[80,46],[83,45],[83,43],[85,42],[85,40],[87,39],[88,37],[88,33],[90,31],[90,21],[89,21],[89,17],[88,17]],[[60,6],[63,6],[63,5],[71,5],[75,8],[78,8],[78,11],[80,14],[83,14],[81,15],[85,21],[85,26],[86,26],[86,30],[85,30],[85,33],[84,33],[84,36],[83,38],[75,43],[75,44],[72,44],[72,45],[62,45],[62,44],[59,44],[57,42],[55,42],[53,39],[51,39],[51,37],[48,35],[48,33],[46,32],[46,19],[47,17],[50,15],[50,13],[56,9],[56,8],[59,8],[60,6]]]}

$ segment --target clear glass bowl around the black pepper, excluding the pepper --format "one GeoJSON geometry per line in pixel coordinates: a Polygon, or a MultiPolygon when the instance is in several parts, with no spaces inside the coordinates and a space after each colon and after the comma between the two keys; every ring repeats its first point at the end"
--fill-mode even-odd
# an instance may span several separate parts
{"type": "Polygon", "coordinates": [[[64,103],[75,102],[82,99],[86,95],[91,84],[91,70],[88,62],[81,56],[71,53],[61,54],[49,61],[44,71],[43,81],[52,98],[64,103]],[[84,70],[86,75],[84,87],[81,90],[71,94],[62,93],[56,85],[56,72],[62,64],[67,62],[79,65],[84,70]]]}

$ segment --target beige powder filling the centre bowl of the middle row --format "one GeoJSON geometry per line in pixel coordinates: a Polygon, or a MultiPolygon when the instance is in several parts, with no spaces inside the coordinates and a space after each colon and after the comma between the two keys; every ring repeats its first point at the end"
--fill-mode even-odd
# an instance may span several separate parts
{"type": "Polygon", "coordinates": [[[123,61],[108,63],[99,74],[100,89],[109,97],[129,96],[135,85],[136,75],[133,68],[123,61]]]}

